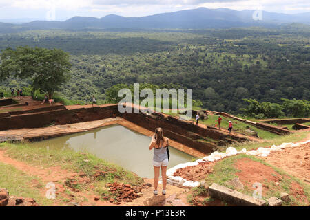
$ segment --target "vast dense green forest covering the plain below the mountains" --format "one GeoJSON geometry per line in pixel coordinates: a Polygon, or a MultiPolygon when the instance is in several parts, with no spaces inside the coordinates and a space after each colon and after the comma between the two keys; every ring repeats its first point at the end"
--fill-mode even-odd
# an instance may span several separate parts
{"type": "MultiPolygon", "coordinates": [[[[59,48],[69,52],[70,80],[59,94],[105,100],[116,84],[178,84],[205,109],[242,113],[246,102],[310,100],[310,30],[302,27],[229,30],[37,30],[0,35],[0,49],[59,48]]],[[[9,78],[0,89],[27,87],[9,78]]]]}

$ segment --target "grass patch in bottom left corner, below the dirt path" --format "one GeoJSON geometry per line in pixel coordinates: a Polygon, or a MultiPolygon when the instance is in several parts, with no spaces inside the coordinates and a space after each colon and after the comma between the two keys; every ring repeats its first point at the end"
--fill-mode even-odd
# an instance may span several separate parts
{"type": "Polygon", "coordinates": [[[0,188],[6,188],[10,195],[16,197],[32,198],[40,206],[52,206],[52,201],[46,199],[40,192],[43,184],[36,177],[26,175],[14,166],[0,162],[0,188]],[[37,186],[30,186],[31,181],[36,181],[37,186]]]}

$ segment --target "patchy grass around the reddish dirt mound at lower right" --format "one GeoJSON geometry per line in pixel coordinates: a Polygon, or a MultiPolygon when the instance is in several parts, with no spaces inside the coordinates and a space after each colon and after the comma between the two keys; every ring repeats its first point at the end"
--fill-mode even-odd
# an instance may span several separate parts
{"type": "MultiPolygon", "coordinates": [[[[279,175],[282,175],[283,179],[280,181],[280,188],[281,192],[287,192],[289,195],[291,195],[290,192],[290,186],[293,181],[296,181],[303,189],[304,189],[304,194],[307,196],[308,200],[310,199],[310,187],[307,186],[307,184],[304,184],[302,181],[297,179],[296,177],[292,177],[291,175],[285,173],[284,171],[280,170],[279,168],[275,168],[266,162],[262,161],[261,159],[258,159],[254,156],[250,155],[245,155],[245,154],[240,154],[232,157],[227,157],[220,162],[216,163],[213,167],[213,172],[207,176],[205,181],[209,186],[211,186],[212,183],[220,184],[221,186],[226,186],[228,188],[234,189],[233,186],[230,186],[227,184],[227,181],[234,179],[234,177],[238,177],[236,173],[238,173],[239,170],[234,168],[234,164],[242,158],[248,158],[251,159],[255,162],[260,162],[261,164],[264,164],[265,166],[270,166],[273,168],[275,173],[278,173],[279,175]]],[[[265,182],[262,183],[265,185],[268,185],[271,190],[267,193],[266,197],[263,196],[263,199],[268,199],[269,197],[279,197],[280,192],[278,190],[272,190],[273,188],[276,188],[275,183],[273,182],[265,182]]],[[[197,188],[194,189],[194,192],[200,192],[201,190],[197,190],[197,188]]],[[[253,194],[253,189],[251,188],[243,188],[242,190],[238,190],[242,193],[245,193],[247,195],[252,195],[253,194]]],[[[291,203],[287,203],[285,205],[289,206],[291,204],[297,204],[298,206],[302,206],[304,204],[300,203],[296,198],[293,198],[291,196],[291,203]]]]}

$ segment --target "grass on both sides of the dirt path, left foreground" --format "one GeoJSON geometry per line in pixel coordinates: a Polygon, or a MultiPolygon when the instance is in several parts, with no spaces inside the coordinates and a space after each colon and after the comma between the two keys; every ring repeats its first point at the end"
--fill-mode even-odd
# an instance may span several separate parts
{"type": "MultiPolygon", "coordinates": [[[[11,158],[17,159],[30,166],[41,166],[43,168],[61,167],[72,173],[83,173],[91,179],[90,182],[72,184],[72,179],[67,179],[65,184],[70,188],[76,188],[82,192],[94,192],[102,197],[116,198],[115,195],[106,188],[107,183],[120,182],[130,184],[132,186],[140,186],[143,180],[134,175],[134,173],[124,170],[120,166],[110,164],[102,159],[91,155],[90,153],[78,153],[70,148],[49,149],[41,146],[29,146],[27,143],[1,143],[0,150],[6,150],[6,154],[11,158]],[[98,171],[105,175],[95,175],[98,171]],[[92,184],[92,187],[90,185],[92,184]]],[[[49,201],[44,199],[40,192],[40,188],[28,188],[29,183],[34,177],[30,177],[25,173],[15,170],[12,166],[0,163],[0,186],[5,187],[11,195],[32,197],[41,205],[48,205],[49,201]],[[24,189],[23,193],[21,189],[24,189]]],[[[45,183],[46,184],[46,183],[45,183]]],[[[59,183],[61,184],[61,183],[59,183]]],[[[44,187],[44,185],[40,185],[44,187]]]]}

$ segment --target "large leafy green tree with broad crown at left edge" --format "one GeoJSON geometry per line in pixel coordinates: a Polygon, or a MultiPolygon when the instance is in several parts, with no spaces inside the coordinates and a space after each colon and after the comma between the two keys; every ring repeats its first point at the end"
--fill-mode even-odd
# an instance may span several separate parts
{"type": "Polygon", "coordinates": [[[33,90],[40,89],[52,98],[54,91],[68,82],[69,54],[59,49],[39,47],[7,48],[1,54],[0,80],[9,76],[31,78],[33,90]]]}

